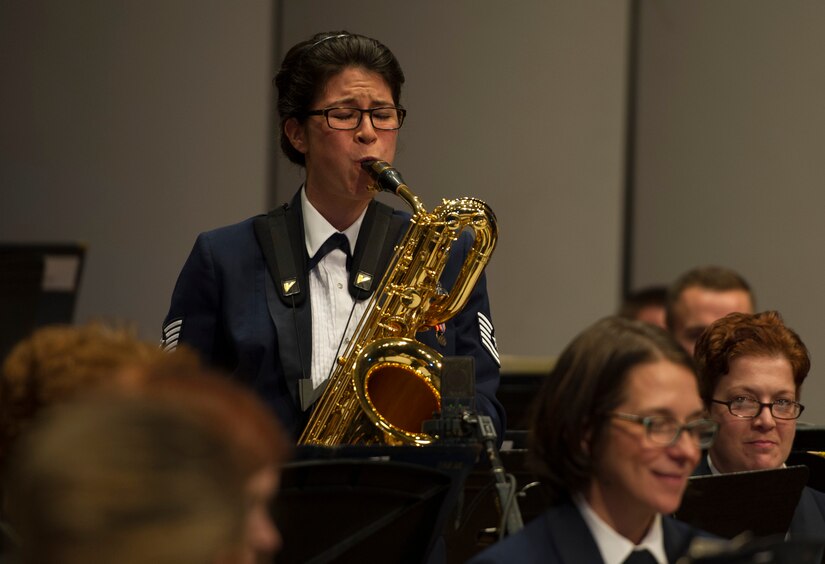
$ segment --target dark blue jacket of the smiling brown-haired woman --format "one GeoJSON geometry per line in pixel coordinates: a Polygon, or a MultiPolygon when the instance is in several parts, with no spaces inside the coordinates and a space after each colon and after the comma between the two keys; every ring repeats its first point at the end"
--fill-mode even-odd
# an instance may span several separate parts
{"type": "MultiPolygon", "coordinates": [[[[665,554],[674,563],[697,536],[707,536],[690,525],[662,516],[665,554]]],[[[572,502],[556,505],[522,530],[487,548],[469,564],[600,564],[596,539],[572,502]]]]}

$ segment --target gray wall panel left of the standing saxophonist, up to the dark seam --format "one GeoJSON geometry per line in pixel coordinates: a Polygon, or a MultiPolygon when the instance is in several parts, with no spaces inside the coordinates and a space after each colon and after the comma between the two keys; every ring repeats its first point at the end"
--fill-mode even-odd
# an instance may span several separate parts
{"type": "Polygon", "coordinates": [[[272,5],[0,0],[0,240],[88,245],[77,319],[159,338],[195,235],[266,207],[272,5]]]}

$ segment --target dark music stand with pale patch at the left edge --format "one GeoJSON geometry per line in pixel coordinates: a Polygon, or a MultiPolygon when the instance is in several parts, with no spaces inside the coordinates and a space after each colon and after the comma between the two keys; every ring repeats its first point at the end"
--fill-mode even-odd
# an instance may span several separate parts
{"type": "Polygon", "coordinates": [[[0,360],[37,327],[71,323],[86,248],[0,244],[0,360]]]}

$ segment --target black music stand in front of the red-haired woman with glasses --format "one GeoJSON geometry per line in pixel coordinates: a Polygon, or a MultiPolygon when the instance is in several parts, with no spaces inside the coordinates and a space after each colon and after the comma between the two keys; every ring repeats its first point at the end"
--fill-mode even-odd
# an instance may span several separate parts
{"type": "Polygon", "coordinates": [[[784,535],[807,480],[805,466],[693,476],[675,517],[728,539],[784,535]]]}

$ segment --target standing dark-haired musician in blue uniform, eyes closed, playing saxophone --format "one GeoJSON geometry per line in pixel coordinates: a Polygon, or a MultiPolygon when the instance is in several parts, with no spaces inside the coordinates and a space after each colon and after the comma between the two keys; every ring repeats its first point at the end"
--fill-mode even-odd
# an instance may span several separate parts
{"type": "MultiPolygon", "coordinates": [[[[404,75],[378,41],[332,32],[290,49],[275,82],[281,148],[305,168],[305,181],[270,214],[198,237],[163,342],[170,349],[186,343],[233,372],[297,437],[408,226],[409,214],[374,201],[362,167],[393,161],[406,115],[404,75]]],[[[441,276],[447,291],[471,242],[463,234],[452,247],[441,276]]],[[[484,277],[461,313],[420,335],[442,355],[475,359],[476,406],[501,437],[499,359],[484,277]]]]}

